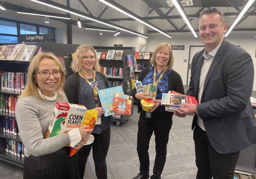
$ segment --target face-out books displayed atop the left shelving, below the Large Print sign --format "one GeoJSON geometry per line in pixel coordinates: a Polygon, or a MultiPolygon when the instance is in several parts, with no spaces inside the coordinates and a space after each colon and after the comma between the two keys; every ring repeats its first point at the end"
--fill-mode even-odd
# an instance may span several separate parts
{"type": "Polygon", "coordinates": [[[0,60],[30,61],[36,49],[36,45],[26,45],[23,43],[0,46],[0,60]]]}

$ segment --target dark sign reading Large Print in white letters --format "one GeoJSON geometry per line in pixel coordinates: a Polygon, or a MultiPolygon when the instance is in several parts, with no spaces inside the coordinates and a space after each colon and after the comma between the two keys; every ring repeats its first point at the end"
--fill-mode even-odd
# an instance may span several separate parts
{"type": "Polygon", "coordinates": [[[19,36],[21,42],[51,42],[50,34],[22,34],[19,36]]]}

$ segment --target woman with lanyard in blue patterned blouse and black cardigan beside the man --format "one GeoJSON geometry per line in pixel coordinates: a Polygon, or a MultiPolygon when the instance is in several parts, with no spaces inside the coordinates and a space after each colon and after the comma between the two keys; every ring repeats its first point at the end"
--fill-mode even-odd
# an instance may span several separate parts
{"type": "Polygon", "coordinates": [[[151,175],[150,179],[161,179],[166,161],[166,147],[173,115],[173,112],[165,111],[165,107],[161,106],[162,93],[174,90],[184,94],[181,77],[171,69],[174,59],[170,44],[160,43],[156,47],[150,62],[153,64],[153,67],[144,68],[138,78],[142,85],[156,84],[158,86],[156,99],[152,100],[156,104],[150,113],[142,110],[140,102],[141,99],[147,98],[149,94],[137,93],[135,89],[132,90],[133,98],[139,101],[138,113],[140,113],[137,133],[137,153],[140,160],[140,172],[133,179],[149,179],[148,149],[153,132],[155,134],[156,157],[153,175],[151,175]]]}

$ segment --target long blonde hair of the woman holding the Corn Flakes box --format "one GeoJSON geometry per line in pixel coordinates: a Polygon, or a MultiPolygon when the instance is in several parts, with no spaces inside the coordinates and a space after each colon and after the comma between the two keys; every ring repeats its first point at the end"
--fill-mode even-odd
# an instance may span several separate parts
{"type": "Polygon", "coordinates": [[[19,98],[34,95],[37,98],[43,100],[43,98],[38,93],[38,89],[37,89],[38,85],[35,79],[35,75],[36,75],[35,72],[37,72],[38,70],[39,62],[45,58],[54,60],[57,66],[61,70],[60,86],[56,89],[56,91],[58,93],[58,96],[60,96],[60,98],[64,98],[64,96],[60,94],[60,90],[63,91],[62,89],[65,82],[65,69],[63,65],[60,63],[60,60],[53,53],[45,53],[45,52],[39,53],[32,58],[30,62],[30,66],[28,68],[27,83],[23,93],[18,96],[19,98]]]}

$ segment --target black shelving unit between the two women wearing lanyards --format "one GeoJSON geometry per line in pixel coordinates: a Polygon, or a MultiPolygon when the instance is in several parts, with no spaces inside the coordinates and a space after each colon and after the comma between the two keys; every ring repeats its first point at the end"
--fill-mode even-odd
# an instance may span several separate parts
{"type": "MultiPolygon", "coordinates": [[[[108,51],[108,50],[124,50],[122,60],[100,60],[100,65],[104,67],[117,67],[123,68],[123,78],[111,78],[108,77],[108,80],[121,80],[123,81],[123,91],[124,94],[132,95],[131,92],[127,92],[125,89],[125,81],[131,80],[132,78],[129,76],[129,67],[126,61],[126,55],[134,55],[135,47],[94,47],[97,51],[108,51]]],[[[132,112],[133,114],[133,100],[132,100],[132,112]]],[[[121,119],[114,118],[116,125],[123,123],[126,121],[131,115],[122,115],[121,119]]]]}

